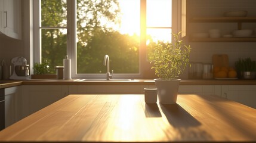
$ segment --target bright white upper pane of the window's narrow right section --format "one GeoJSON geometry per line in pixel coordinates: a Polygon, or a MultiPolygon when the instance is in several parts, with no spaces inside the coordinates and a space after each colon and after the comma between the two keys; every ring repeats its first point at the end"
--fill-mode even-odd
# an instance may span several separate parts
{"type": "Polygon", "coordinates": [[[171,27],[171,0],[147,0],[147,27],[171,27]]]}

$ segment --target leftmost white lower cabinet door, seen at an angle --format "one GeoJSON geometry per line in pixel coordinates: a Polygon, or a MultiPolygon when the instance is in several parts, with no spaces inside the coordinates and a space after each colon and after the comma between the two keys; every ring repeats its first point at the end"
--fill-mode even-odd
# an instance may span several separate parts
{"type": "Polygon", "coordinates": [[[5,88],[5,127],[21,119],[21,86],[5,88]]]}

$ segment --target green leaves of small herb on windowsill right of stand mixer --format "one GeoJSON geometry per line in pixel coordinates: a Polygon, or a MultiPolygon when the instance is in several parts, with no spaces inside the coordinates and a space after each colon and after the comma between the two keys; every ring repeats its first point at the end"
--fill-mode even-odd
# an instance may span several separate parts
{"type": "Polygon", "coordinates": [[[50,63],[45,60],[43,61],[41,64],[39,63],[35,63],[33,70],[34,70],[34,74],[47,74],[50,73],[50,63]]]}

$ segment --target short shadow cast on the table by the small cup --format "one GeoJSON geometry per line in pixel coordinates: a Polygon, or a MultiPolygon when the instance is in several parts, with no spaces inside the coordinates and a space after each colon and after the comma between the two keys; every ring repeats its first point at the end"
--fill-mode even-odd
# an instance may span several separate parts
{"type": "Polygon", "coordinates": [[[145,103],[145,116],[146,117],[162,117],[161,112],[158,108],[158,104],[146,104],[145,103]]]}

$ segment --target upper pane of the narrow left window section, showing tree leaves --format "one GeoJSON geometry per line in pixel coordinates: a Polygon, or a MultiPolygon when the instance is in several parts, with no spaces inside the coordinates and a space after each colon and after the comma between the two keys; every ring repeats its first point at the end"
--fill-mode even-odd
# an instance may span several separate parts
{"type": "Polygon", "coordinates": [[[41,0],[41,26],[67,26],[66,0],[41,0]]]}

